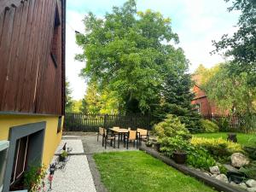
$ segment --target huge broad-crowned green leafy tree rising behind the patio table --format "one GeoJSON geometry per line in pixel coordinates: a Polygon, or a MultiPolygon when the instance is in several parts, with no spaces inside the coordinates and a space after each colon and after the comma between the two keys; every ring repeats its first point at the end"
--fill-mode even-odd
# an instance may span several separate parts
{"type": "MultiPolygon", "coordinates": [[[[171,20],[151,10],[138,12],[134,0],[103,18],[89,13],[84,18],[85,32],[77,34],[77,44],[86,61],[84,78],[96,80],[99,89],[114,92],[119,110],[125,113],[151,113],[160,102],[170,55],[181,55],[171,20]]],[[[175,57],[179,61],[179,57],[175,57]]]]}

